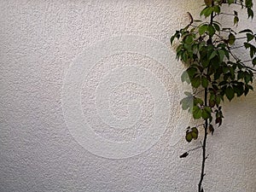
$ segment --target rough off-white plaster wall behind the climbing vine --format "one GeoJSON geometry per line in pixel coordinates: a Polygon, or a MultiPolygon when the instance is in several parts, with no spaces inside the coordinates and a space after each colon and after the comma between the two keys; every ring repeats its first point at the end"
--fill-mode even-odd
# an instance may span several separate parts
{"type": "MultiPolygon", "coordinates": [[[[179,118],[181,64],[166,49],[185,13],[196,15],[200,5],[1,1],[0,191],[196,191],[201,152],[178,158],[199,143],[183,140],[189,117],[179,118]]],[[[256,191],[255,98],[226,102],[224,125],[208,143],[206,191],[256,191]]]]}

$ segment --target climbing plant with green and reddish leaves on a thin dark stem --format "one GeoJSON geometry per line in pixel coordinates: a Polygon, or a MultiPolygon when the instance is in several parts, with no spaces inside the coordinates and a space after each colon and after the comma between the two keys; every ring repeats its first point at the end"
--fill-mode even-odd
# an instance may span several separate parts
{"type": "MultiPolygon", "coordinates": [[[[185,131],[185,139],[189,143],[199,134],[203,135],[199,147],[202,149],[202,162],[198,192],[204,191],[207,137],[223,123],[222,103],[236,96],[247,96],[253,90],[256,34],[247,28],[237,32],[239,13],[231,9],[236,7],[247,12],[248,20],[253,19],[253,0],[204,0],[200,13],[202,20],[194,20],[188,13],[189,25],[177,30],[171,38],[171,44],[177,44],[177,59],[186,66],[181,80],[193,88],[192,92],[184,93],[181,106],[194,119],[204,122],[190,125],[185,131]],[[230,12],[225,13],[224,6],[229,6],[230,12]],[[234,25],[230,27],[221,22],[220,15],[230,17],[234,25]],[[247,60],[242,60],[244,55],[241,59],[236,49],[246,49],[247,60]],[[201,132],[199,126],[203,127],[201,132]]],[[[190,151],[180,157],[188,156],[190,151]]]]}

